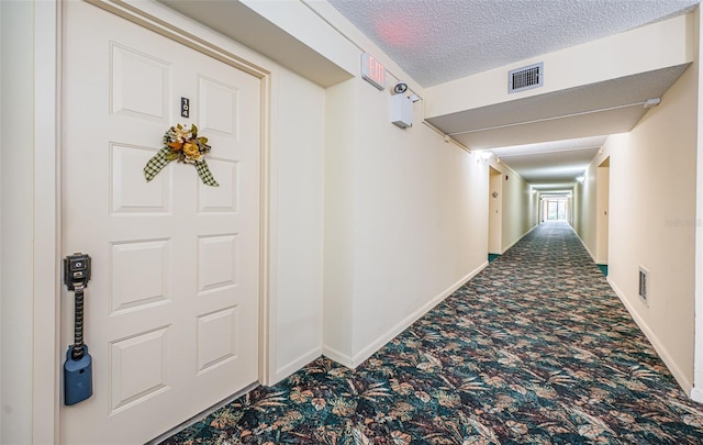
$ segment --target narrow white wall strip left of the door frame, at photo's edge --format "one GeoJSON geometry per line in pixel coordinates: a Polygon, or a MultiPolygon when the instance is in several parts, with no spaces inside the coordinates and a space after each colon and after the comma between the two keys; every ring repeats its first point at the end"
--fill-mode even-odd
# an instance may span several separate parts
{"type": "Polygon", "coordinates": [[[3,444],[32,437],[32,200],[34,10],[1,2],[2,132],[0,243],[3,444]]]}

